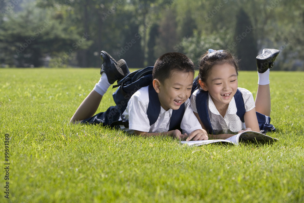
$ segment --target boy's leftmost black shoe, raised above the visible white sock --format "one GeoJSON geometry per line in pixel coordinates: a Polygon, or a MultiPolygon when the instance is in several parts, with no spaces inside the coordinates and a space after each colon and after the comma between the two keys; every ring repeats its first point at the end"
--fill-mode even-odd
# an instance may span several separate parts
{"type": "Polygon", "coordinates": [[[105,51],[101,51],[100,57],[103,60],[100,75],[102,72],[105,72],[110,84],[113,84],[116,80],[124,77],[125,74],[123,70],[118,67],[117,62],[114,60],[114,58],[112,58],[112,56],[105,51]]]}

